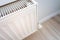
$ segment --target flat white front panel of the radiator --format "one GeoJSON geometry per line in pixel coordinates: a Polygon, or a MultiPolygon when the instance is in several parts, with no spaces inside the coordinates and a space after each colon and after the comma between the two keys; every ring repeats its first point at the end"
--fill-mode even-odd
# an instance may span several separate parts
{"type": "Polygon", "coordinates": [[[0,21],[0,40],[20,40],[37,31],[36,4],[13,12],[0,21]]]}

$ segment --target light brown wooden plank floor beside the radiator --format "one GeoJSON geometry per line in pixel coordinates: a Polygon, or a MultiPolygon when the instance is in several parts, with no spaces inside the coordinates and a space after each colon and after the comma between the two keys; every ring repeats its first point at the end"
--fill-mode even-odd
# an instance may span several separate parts
{"type": "Polygon", "coordinates": [[[42,28],[24,40],[60,40],[60,15],[42,23],[42,28]]]}

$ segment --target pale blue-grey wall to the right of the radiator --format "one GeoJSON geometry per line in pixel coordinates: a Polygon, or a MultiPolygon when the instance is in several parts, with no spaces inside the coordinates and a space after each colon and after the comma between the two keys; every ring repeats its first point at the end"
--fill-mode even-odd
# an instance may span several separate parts
{"type": "Polygon", "coordinates": [[[60,0],[36,0],[39,5],[39,20],[60,10],[60,0]]]}

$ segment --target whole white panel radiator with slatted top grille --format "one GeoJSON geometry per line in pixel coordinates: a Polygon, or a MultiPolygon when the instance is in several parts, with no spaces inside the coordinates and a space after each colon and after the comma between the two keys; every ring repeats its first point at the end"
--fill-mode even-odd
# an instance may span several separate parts
{"type": "Polygon", "coordinates": [[[18,1],[0,8],[0,40],[22,40],[37,31],[37,3],[18,1]]]}

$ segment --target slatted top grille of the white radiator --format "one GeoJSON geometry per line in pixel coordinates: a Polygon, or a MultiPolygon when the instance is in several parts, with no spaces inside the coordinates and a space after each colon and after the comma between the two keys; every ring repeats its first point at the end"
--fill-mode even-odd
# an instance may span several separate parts
{"type": "MultiPolygon", "coordinates": [[[[4,7],[0,7],[0,17],[4,17],[14,11],[20,10],[22,8],[27,7],[27,1],[17,1],[15,3],[6,5],[4,7]]],[[[32,4],[32,2],[30,2],[29,4],[32,4]]]]}

